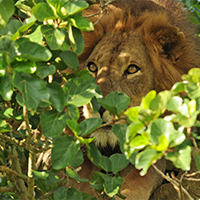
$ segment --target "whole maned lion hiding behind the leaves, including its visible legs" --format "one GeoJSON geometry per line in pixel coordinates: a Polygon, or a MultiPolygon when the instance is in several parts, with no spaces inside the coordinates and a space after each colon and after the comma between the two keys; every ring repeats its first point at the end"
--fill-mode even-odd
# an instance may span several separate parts
{"type": "MultiPolygon", "coordinates": [[[[99,5],[93,5],[84,15],[99,10],[99,5]]],[[[199,39],[179,1],[116,0],[100,18],[100,14],[91,17],[98,22],[95,30],[83,33],[85,48],[79,62],[96,79],[104,97],[120,91],[130,97],[130,106],[138,106],[149,91],[171,89],[183,74],[200,66],[199,39]]],[[[94,114],[86,105],[83,113],[85,118],[101,117],[105,123],[112,120],[104,108],[94,114]]],[[[110,127],[98,129],[93,136],[103,155],[120,152],[110,127]]],[[[99,170],[87,158],[81,167],[79,175],[85,178],[99,170]]],[[[165,160],[158,161],[157,167],[164,172],[165,160]]],[[[120,173],[125,180],[120,191],[127,200],[149,199],[163,180],[152,167],[143,177],[132,165],[120,173]]],[[[96,195],[87,184],[71,185],[96,195]]]]}

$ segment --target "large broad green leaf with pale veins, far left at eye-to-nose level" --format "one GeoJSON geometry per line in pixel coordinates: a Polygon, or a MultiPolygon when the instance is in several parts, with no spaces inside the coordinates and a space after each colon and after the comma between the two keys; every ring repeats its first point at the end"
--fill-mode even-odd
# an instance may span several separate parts
{"type": "Polygon", "coordinates": [[[34,75],[17,72],[13,75],[12,82],[21,92],[23,104],[29,110],[36,109],[40,102],[49,98],[45,83],[34,75]]]}

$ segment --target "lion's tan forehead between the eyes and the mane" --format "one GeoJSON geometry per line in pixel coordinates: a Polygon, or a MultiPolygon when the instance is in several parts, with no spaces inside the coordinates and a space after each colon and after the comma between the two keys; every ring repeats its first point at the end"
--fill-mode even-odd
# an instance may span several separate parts
{"type": "Polygon", "coordinates": [[[142,37],[134,33],[128,35],[123,38],[117,33],[105,35],[94,48],[89,60],[122,71],[124,63],[136,62],[140,66],[148,64],[149,56],[142,37]]]}

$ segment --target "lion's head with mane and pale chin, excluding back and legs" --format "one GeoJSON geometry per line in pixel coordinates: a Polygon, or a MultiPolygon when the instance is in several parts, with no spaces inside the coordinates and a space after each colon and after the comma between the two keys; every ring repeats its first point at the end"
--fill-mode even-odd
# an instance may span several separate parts
{"type": "MultiPolygon", "coordinates": [[[[130,97],[130,106],[138,106],[150,90],[170,89],[197,64],[191,47],[187,48],[187,35],[166,13],[144,12],[135,17],[121,12],[115,9],[94,32],[84,33],[85,49],[79,61],[96,79],[104,97],[120,91],[130,97]]],[[[94,114],[89,105],[84,106],[84,115],[112,121],[108,111],[94,114]]],[[[98,129],[91,136],[100,147],[114,148],[118,143],[111,127],[98,129]]]]}

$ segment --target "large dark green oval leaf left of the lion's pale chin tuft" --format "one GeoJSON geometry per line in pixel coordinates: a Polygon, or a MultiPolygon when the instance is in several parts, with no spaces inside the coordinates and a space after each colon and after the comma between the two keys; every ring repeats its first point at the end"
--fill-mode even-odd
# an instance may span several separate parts
{"type": "Polygon", "coordinates": [[[52,149],[52,167],[56,170],[68,167],[79,150],[80,143],[76,142],[73,137],[67,135],[58,137],[52,149]]]}

